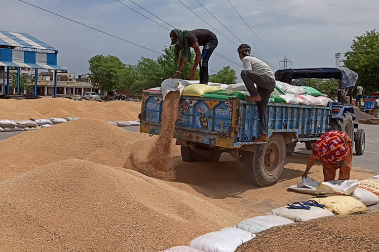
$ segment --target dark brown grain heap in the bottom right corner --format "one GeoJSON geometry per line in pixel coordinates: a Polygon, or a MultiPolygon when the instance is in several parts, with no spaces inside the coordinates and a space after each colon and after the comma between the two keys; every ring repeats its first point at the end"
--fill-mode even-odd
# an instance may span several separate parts
{"type": "Polygon", "coordinates": [[[257,234],[236,252],[379,251],[379,214],[332,216],[278,226],[257,234]]]}

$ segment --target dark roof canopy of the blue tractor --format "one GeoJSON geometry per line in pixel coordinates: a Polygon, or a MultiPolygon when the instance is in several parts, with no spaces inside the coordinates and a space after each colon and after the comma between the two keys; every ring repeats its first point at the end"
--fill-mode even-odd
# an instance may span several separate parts
{"type": "Polygon", "coordinates": [[[275,72],[275,79],[291,84],[293,79],[339,79],[340,88],[354,87],[358,74],[347,67],[283,69],[275,72]]]}

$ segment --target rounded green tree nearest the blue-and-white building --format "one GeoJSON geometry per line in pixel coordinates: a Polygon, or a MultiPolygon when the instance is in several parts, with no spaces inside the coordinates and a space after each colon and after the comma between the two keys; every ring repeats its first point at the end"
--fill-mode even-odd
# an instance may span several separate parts
{"type": "Polygon", "coordinates": [[[117,57],[96,55],[89,61],[90,79],[94,87],[103,91],[122,88],[122,72],[125,69],[117,57]]]}

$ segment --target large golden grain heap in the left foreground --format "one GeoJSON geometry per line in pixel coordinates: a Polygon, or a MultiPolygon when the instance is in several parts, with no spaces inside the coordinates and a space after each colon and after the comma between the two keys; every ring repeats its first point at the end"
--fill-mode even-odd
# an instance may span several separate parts
{"type": "Polygon", "coordinates": [[[168,182],[84,160],[0,184],[1,252],[156,252],[237,220],[168,182]]]}

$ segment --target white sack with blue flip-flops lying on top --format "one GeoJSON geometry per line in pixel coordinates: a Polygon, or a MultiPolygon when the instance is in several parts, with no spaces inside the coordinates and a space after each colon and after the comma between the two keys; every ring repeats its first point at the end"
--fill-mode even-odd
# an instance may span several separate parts
{"type": "Polygon", "coordinates": [[[309,221],[321,217],[333,216],[326,208],[310,206],[310,209],[293,209],[288,206],[279,207],[268,212],[269,215],[281,216],[295,222],[309,221]]]}

